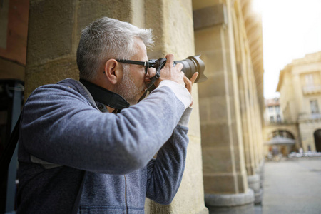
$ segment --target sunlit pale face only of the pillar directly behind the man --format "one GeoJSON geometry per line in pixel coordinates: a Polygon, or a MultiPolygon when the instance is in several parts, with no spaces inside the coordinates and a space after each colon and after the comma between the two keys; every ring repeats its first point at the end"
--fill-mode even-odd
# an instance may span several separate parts
{"type": "MultiPolygon", "coordinates": [[[[146,28],[156,36],[149,58],[161,58],[173,53],[175,59],[195,55],[193,10],[191,1],[145,1],[146,28]]],[[[198,111],[198,84],[193,86],[193,114],[190,118],[188,156],[183,180],[170,205],[148,201],[146,213],[208,213],[204,204],[202,152],[200,146],[200,117],[198,111]]]]}

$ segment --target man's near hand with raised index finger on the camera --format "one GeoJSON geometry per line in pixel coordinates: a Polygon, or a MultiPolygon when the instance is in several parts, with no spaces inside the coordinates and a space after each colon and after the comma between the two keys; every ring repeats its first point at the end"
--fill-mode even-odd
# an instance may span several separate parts
{"type": "Polygon", "coordinates": [[[167,54],[166,55],[166,63],[163,69],[161,69],[161,77],[154,83],[154,85],[157,87],[159,83],[163,80],[171,80],[175,81],[176,83],[179,83],[180,85],[185,86],[184,76],[182,68],[183,65],[181,63],[178,63],[177,65],[174,65],[174,55],[173,54],[167,54]]]}

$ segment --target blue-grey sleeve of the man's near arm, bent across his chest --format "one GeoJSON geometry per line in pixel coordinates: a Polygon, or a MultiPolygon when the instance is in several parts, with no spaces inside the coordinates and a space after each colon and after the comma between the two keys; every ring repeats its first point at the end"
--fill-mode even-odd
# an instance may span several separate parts
{"type": "Polygon", "coordinates": [[[93,108],[71,87],[41,86],[24,106],[19,142],[49,163],[96,173],[131,173],[147,165],[170,138],[190,103],[187,90],[181,88],[180,95],[173,90],[168,85],[156,88],[115,115],[93,108]]]}

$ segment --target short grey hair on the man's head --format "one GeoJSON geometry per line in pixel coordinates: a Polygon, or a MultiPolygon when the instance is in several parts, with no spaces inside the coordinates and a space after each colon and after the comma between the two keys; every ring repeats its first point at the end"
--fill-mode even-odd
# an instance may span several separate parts
{"type": "Polygon", "coordinates": [[[110,58],[130,59],[136,54],[136,38],[142,39],[148,48],[153,44],[151,29],[139,29],[106,16],[93,21],[81,32],[77,49],[80,78],[93,80],[101,64],[110,58]]]}

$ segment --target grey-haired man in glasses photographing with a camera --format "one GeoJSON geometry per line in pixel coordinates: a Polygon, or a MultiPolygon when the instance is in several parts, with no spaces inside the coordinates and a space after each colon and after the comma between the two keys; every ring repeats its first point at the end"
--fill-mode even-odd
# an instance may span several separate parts
{"type": "Polygon", "coordinates": [[[20,127],[18,213],[143,213],[146,197],[173,200],[198,74],[188,80],[168,54],[156,89],[137,103],[156,73],[144,66],[152,43],[151,30],[98,19],[81,34],[81,81],[41,86],[29,96],[20,127]]]}

